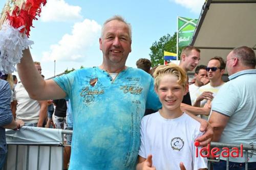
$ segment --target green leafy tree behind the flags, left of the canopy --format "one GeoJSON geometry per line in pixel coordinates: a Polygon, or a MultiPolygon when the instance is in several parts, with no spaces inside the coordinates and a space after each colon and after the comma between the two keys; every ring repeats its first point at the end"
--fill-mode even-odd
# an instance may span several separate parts
{"type": "MultiPolygon", "coordinates": [[[[151,66],[157,66],[163,64],[163,53],[166,52],[172,52],[176,53],[176,39],[177,39],[177,33],[174,33],[173,36],[170,36],[170,34],[162,36],[159,41],[155,41],[152,46],[150,47],[151,53],[151,66]]],[[[182,48],[179,48],[179,54],[181,52],[182,48]]],[[[180,55],[178,55],[180,56],[180,55]]]]}

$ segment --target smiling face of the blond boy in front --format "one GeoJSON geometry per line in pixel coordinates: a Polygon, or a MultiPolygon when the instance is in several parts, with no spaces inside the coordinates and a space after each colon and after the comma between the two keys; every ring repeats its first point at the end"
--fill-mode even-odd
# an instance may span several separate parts
{"type": "Polygon", "coordinates": [[[180,111],[180,104],[183,96],[187,93],[187,87],[183,87],[173,75],[163,75],[159,80],[158,87],[155,87],[163,110],[180,111]]]}

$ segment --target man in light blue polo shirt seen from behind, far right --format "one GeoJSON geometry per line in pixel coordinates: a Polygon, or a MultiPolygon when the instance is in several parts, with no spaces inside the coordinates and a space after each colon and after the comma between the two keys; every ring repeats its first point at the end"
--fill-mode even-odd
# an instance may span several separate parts
{"type": "MultiPolygon", "coordinates": [[[[229,82],[223,85],[212,101],[209,123],[214,128],[214,141],[234,144],[256,144],[256,58],[254,51],[241,46],[234,48],[226,59],[229,82]]],[[[248,153],[249,169],[256,169],[256,153],[248,153]]],[[[244,157],[229,157],[229,169],[244,169],[244,157]]],[[[221,158],[214,169],[226,169],[221,158]]]]}

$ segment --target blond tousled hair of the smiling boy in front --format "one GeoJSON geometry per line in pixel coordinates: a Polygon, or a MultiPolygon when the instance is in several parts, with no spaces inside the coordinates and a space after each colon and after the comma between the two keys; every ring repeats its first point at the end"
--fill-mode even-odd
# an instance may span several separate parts
{"type": "Polygon", "coordinates": [[[185,88],[187,84],[186,72],[176,64],[159,65],[154,72],[155,87],[158,88],[161,78],[164,75],[173,75],[178,78],[177,83],[185,88]]]}

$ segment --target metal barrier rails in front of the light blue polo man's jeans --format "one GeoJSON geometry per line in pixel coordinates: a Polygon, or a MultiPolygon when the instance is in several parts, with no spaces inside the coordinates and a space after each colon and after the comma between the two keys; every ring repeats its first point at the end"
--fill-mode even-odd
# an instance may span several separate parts
{"type": "MultiPolygon", "coordinates": [[[[243,144],[243,143],[241,143],[243,144]]],[[[230,143],[220,143],[220,142],[211,142],[210,147],[216,147],[216,148],[239,148],[241,149],[241,144],[230,144],[230,143]]],[[[256,151],[256,148],[253,147],[253,144],[243,144],[243,151],[245,151],[245,170],[248,170],[248,151],[256,151]]],[[[208,169],[211,169],[211,162],[219,162],[220,158],[218,159],[208,159],[208,169]]],[[[229,169],[229,158],[226,159],[226,169],[229,169]]]]}

